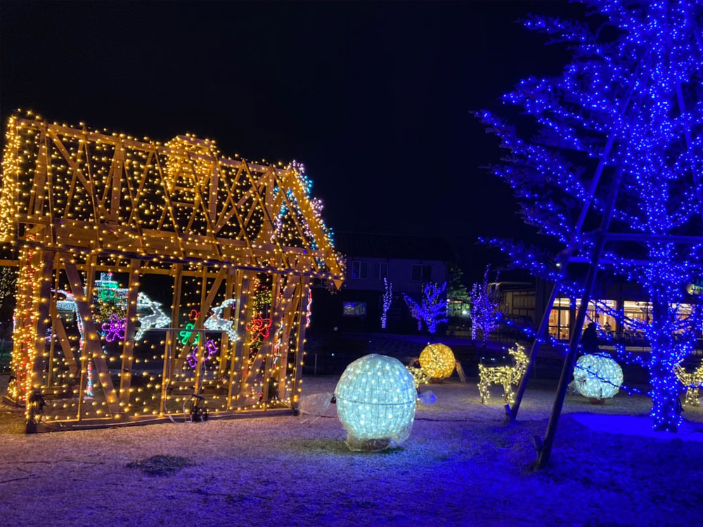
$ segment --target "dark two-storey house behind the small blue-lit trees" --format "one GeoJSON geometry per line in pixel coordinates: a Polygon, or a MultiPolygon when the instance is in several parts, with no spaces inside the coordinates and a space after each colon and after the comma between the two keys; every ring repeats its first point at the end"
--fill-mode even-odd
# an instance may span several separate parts
{"type": "MultiPolygon", "coordinates": [[[[335,233],[335,248],[344,254],[346,280],[336,294],[322,283],[314,287],[312,329],[380,331],[385,278],[393,285],[386,330],[418,333],[402,294],[419,300],[426,282],[446,282],[449,244],[425,236],[335,233]]],[[[440,325],[439,332],[444,330],[446,325],[440,325]]]]}

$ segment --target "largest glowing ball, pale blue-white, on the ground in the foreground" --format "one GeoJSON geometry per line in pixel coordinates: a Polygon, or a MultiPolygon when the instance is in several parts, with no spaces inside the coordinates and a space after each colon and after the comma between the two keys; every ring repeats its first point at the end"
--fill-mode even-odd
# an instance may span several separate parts
{"type": "Polygon", "coordinates": [[[375,353],[354,360],[335,389],[349,449],[385,450],[405,441],[417,397],[413,375],[400,360],[375,353]]]}

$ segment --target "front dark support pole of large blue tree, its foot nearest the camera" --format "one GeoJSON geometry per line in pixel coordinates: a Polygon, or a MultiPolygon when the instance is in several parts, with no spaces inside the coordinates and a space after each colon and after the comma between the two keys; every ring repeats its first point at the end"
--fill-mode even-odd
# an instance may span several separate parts
{"type": "Polygon", "coordinates": [[[595,243],[593,245],[591,266],[588,268],[588,275],[586,275],[586,287],[583,291],[583,297],[581,298],[579,314],[576,315],[576,324],[574,325],[574,331],[572,332],[571,339],[569,341],[569,351],[564,360],[564,366],[562,367],[562,375],[559,379],[559,386],[557,387],[557,397],[555,398],[552,413],[549,417],[544,441],[538,441],[539,455],[536,462],[536,468],[538,469],[543,469],[546,466],[549,461],[549,456],[552,453],[554,436],[557,432],[557,423],[559,422],[562,407],[564,406],[564,399],[567,394],[567,387],[569,386],[569,382],[571,380],[572,370],[574,370],[576,353],[579,351],[579,344],[581,343],[581,329],[583,328],[583,321],[586,320],[586,313],[588,313],[588,302],[591,301],[593,285],[595,285],[595,278],[598,275],[598,261],[600,261],[600,255],[602,254],[603,247],[605,246],[605,233],[607,233],[608,227],[610,226],[610,220],[613,216],[621,175],[622,168],[619,168],[617,169],[611,183],[610,195],[608,195],[605,211],[603,212],[603,216],[600,221],[600,232],[596,235],[595,243]]]}

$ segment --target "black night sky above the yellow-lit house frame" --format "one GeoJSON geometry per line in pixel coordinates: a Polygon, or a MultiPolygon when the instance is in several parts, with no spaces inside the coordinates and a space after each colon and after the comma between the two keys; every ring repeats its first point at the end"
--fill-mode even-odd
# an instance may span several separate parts
{"type": "Polygon", "coordinates": [[[529,235],[471,115],[568,58],[516,21],[557,2],[0,2],[0,112],[304,162],[337,231],[441,235],[468,280],[529,235]]]}

